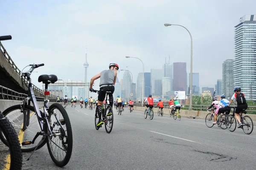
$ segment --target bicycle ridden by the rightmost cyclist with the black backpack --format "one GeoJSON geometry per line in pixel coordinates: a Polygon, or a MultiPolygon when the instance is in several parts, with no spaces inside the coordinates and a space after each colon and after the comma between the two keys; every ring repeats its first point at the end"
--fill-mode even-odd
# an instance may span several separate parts
{"type": "MultiPolygon", "coordinates": [[[[227,128],[230,132],[234,132],[236,130],[236,118],[235,118],[235,110],[236,107],[230,107],[233,109],[233,114],[228,115],[227,117],[227,128]]],[[[243,113],[246,114],[245,109],[242,110],[240,115],[240,121],[242,123],[241,129],[245,134],[250,135],[253,132],[253,121],[250,116],[243,116],[243,113]]],[[[239,127],[240,128],[240,127],[239,127]]]]}

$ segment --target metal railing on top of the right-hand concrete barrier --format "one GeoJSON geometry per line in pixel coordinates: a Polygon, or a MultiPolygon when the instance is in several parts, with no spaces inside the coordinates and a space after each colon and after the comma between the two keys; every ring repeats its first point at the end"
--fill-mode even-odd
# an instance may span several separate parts
{"type": "MultiPolygon", "coordinates": [[[[189,109],[189,104],[180,104],[181,105],[181,109],[189,109]]],[[[141,106],[141,103],[134,103],[134,106],[141,106]]],[[[143,104],[144,106],[144,104],[143,104]]],[[[164,108],[168,108],[169,104],[168,103],[164,103],[163,107],[164,108]]],[[[195,111],[207,111],[207,107],[209,107],[209,105],[192,105],[192,110],[195,111]]],[[[233,107],[236,105],[232,105],[233,107]]],[[[154,107],[157,107],[157,104],[154,104],[154,107]]],[[[256,114],[256,106],[248,106],[248,108],[246,109],[246,111],[248,112],[248,114],[256,114]]]]}

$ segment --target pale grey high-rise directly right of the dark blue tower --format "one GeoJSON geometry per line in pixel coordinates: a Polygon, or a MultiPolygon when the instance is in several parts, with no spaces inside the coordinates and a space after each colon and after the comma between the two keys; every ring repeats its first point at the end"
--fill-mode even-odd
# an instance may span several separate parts
{"type": "Polygon", "coordinates": [[[162,95],[162,69],[151,69],[152,96],[162,95]]]}

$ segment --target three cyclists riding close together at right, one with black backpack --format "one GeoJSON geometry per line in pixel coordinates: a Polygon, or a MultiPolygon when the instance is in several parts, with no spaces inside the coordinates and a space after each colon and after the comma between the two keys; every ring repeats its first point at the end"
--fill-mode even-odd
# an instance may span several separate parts
{"type": "MultiPolygon", "coordinates": [[[[216,97],[212,98],[212,105],[209,106],[208,109],[215,107],[215,115],[214,115],[214,122],[212,124],[216,124],[217,123],[217,115],[218,114],[230,114],[230,104],[235,100],[237,103],[237,107],[235,110],[235,117],[236,120],[238,121],[239,125],[238,128],[241,128],[241,126],[243,126],[244,124],[241,123],[241,119],[240,119],[240,114],[242,111],[245,111],[247,109],[247,103],[246,103],[246,99],[245,99],[245,95],[243,93],[241,93],[241,88],[240,87],[236,87],[234,89],[234,94],[231,97],[231,100],[228,101],[227,99],[225,99],[225,96],[222,95],[221,96],[221,100],[218,101],[218,99],[216,97]]],[[[213,112],[213,109],[212,109],[213,112]]]]}

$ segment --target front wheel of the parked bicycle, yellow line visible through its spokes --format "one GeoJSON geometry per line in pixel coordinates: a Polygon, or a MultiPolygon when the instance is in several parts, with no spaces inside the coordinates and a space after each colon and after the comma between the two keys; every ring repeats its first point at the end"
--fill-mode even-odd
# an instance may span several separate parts
{"type": "MultiPolygon", "coordinates": [[[[41,128],[38,123],[37,115],[35,114],[35,109],[32,106],[27,105],[26,108],[23,108],[24,110],[29,109],[29,125],[26,127],[26,130],[22,131],[23,127],[23,119],[24,115],[23,112],[20,112],[20,104],[14,105],[12,107],[7,108],[5,111],[3,111],[3,115],[8,118],[12,126],[14,127],[16,133],[18,134],[19,141],[21,143],[21,151],[22,152],[32,152],[37,147],[37,150],[43,147],[46,144],[46,137],[43,135],[38,136],[38,138],[35,139],[34,144],[25,144],[24,142],[32,141],[35,137],[35,135],[38,132],[41,132],[41,128]]],[[[44,115],[43,112],[41,112],[41,115],[44,115]]],[[[45,122],[45,120],[44,120],[45,122]]],[[[44,131],[46,131],[47,125],[44,124],[44,131]]],[[[5,136],[0,133],[0,139],[3,141],[6,146],[8,146],[8,143],[6,141],[5,136]]]]}

